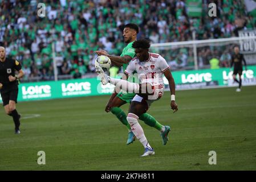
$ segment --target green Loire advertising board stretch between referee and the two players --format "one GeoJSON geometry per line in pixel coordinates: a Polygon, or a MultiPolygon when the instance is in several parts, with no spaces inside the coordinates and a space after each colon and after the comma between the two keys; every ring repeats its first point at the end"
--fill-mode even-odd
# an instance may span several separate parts
{"type": "MultiPolygon", "coordinates": [[[[47,100],[109,94],[113,85],[101,85],[97,78],[44,81],[19,84],[18,101],[47,100]]],[[[2,98],[0,97],[0,102],[2,98]]]]}

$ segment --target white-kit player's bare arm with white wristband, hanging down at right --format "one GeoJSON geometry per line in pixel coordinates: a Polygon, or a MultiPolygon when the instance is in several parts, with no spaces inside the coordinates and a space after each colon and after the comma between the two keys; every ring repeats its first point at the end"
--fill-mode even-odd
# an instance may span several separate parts
{"type": "Polygon", "coordinates": [[[175,101],[175,82],[172,76],[172,73],[170,73],[170,70],[166,70],[164,73],[164,76],[169,82],[169,88],[170,88],[170,107],[173,110],[173,113],[175,113],[178,110],[178,105],[175,101]]]}

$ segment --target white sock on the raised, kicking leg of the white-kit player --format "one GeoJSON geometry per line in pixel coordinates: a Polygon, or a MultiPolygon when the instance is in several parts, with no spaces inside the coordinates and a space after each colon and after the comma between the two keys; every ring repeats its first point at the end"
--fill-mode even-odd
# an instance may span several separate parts
{"type": "Polygon", "coordinates": [[[139,93],[140,85],[129,82],[127,80],[121,80],[121,79],[116,79],[112,77],[108,77],[108,82],[116,85],[120,89],[126,91],[127,93],[139,93]]]}

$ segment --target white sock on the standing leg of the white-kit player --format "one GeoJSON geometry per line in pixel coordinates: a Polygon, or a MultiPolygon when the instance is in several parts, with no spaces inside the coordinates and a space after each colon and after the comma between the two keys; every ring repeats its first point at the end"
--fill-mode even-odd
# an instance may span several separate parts
{"type": "Polygon", "coordinates": [[[136,114],[128,113],[128,115],[127,115],[127,121],[129,123],[129,125],[131,126],[132,132],[136,136],[136,138],[140,141],[141,144],[143,144],[143,146],[145,148],[146,147],[152,148],[149,145],[148,140],[144,135],[144,131],[143,131],[142,127],[140,126],[138,119],[139,119],[139,117],[137,117],[136,114]]]}

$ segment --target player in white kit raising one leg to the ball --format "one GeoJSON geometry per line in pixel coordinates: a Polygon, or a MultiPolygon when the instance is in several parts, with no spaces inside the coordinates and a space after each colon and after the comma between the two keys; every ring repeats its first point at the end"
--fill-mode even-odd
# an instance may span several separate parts
{"type": "Polygon", "coordinates": [[[129,106],[127,121],[136,138],[140,140],[145,148],[145,152],[141,156],[155,154],[155,151],[149,145],[148,140],[144,135],[144,131],[140,126],[138,119],[141,114],[147,112],[153,101],[159,100],[164,94],[164,81],[162,75],[164,75],[169,82],[171,94],[170,107],[174,112],[178,110],[178,105],[175,102],[175,83],[172,73],[170,73],[169,65],[162,56],[149,52],[150,46],[148,40],[136,40],[132,44],[132,47],[135,48],[136,57],[129,63],[125,70],[125,76],[127,79],[128,76],[131,76],[132,73],[136,71],[140,80],[139,84],[109,77],[105,75],[103,70],[97,71],[103,85],[106,85],[108,82],[116,85],[115,92],[118,93],[120,89],[122,89],[128,93],[136,93],[136,96],[129,106]]]}

